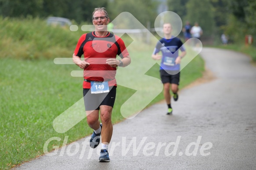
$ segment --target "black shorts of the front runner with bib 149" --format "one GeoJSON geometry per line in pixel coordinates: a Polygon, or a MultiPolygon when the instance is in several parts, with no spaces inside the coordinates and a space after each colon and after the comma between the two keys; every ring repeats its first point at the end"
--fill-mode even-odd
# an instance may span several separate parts
{"type": "Polygon", "coordinates": [[[90,89],[83,89],[85,110],[100,110],[101,105],[114,107],[116,86],[110,86],[109,92],[91,94],[90,89]]]}

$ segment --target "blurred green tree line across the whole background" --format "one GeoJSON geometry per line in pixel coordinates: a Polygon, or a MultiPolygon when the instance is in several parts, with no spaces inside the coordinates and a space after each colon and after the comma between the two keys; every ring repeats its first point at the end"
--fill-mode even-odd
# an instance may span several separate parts
{"type": "MultiPolygon", "coordinates": [[[[15,18],[58,16],[79,24],[91,22],[95,7],[106,7],[111,19],[127,11],[145,27],[148,22],[153,27],[162,2],[164,0],[0,0],[0,15],[15,18]]],[[[226,33],[235,42],[245,34],[256,35],[255,0],[166,0],[164,3],[184,24],[197,21],[204,36],[226,33]]]]}

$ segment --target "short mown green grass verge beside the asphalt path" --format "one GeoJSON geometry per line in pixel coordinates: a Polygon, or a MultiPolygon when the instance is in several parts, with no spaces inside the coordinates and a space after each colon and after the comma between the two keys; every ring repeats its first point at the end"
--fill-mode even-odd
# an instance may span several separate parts
{"type": "MultiPolygon", "coordinates": [[[[69,136],[68,142],[72,142],[91,133],[86,119],[64,134],[52,127],[54,118],[82,97],[81,78],[70,76],[72,70],[77,70],[75,65],[55,65],[51,60],[1,59],[0,67],[0,169],[40,156],[48,138],[56,136],[63,140],[69,136]]],[[[155,65],[149,72],[159,77],[158,70],[155,65]]],[[[202,71],[202,59],[195,57],[182,71],[181,87],[200,77],[202,71]]],[[[113,123],[124,119],[120,107],[133,93],[133,89],[117,88],[113,123]]],[[[162,93],[150,105],[161,99],[162,93]]]]}

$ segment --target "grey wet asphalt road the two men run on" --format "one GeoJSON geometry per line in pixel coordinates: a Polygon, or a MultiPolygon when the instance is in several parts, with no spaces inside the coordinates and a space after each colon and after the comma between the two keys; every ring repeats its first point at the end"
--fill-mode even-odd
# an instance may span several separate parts
{"type": "Polygon", "coordinates": [[[90,136],[15,167],[18,170],[256,170],[256,67],[229,50],[200,53],[215,78],[115,124],[109,163],[90,136]]]}

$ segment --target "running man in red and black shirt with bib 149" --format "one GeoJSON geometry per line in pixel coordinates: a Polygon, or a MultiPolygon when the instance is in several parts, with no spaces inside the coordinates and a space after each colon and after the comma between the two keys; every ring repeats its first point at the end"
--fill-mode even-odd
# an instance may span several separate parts
{"type": "Polygon", "coordinates": [[[92,22],[95,31],[80,37],[73,54],[73,62],[84,70],[83,98],[87,124],[94,129],[90,147],[96,148],[101,136],[99,162],[109,162],[108,145],[113,131],[111,114],[117,86],[116,67],[126,67],[131,59],[123,40],[108,32],[109,18],[104,7],[94,9],[92,22]],[[116,55],[121,60],[117,60],[116,55]],[[102,124],[99,121],[99,110],[102,124]]]}

